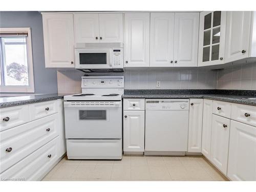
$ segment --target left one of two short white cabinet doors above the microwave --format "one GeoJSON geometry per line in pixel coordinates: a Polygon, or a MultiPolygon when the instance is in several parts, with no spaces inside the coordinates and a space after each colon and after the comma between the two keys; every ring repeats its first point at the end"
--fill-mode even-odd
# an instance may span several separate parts
{"type": "Polygon", "coordinates": [[[99,14],[74,14],[76,44],[99,42],[99,14]]]}

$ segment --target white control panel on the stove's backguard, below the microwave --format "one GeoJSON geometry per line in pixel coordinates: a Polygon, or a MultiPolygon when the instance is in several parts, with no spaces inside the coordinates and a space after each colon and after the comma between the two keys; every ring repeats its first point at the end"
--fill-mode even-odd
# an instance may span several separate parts
{"type": "Polygon", "coordinates": [[[123,88],[123,77],[82,77],[81,88],[123,88]]]}

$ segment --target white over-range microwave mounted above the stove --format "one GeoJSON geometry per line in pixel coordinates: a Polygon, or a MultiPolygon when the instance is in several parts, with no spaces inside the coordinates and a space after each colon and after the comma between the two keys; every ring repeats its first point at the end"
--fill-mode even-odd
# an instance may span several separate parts
{"type": "Polygon", "coordinates": [[[123,72],[123,48],[75,48],[75,68],[84,72],[123,72]]]}

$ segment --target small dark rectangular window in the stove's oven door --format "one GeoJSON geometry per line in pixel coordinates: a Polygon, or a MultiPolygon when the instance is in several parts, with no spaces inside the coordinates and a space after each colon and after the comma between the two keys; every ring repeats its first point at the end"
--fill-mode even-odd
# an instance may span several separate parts
{"type": "Polygon", "coordinates": [[[79,120],[106,120],[106,111],[79,110],[79,120]]]}

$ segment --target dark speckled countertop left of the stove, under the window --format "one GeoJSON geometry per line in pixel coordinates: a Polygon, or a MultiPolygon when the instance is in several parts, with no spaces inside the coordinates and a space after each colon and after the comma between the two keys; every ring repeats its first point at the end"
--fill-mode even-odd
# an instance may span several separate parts
{"type": "Polygon", "coordinates": [[[50,100],[56,100],[63,98],[66,94],[25,94],[13,96],[15,94],[11,94],[12,96],[0,95],[0,108],[7,108],[8,106],[16,106],[23,104],[30,104],[36,102],[44,102],[50,100]]]}

